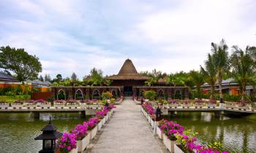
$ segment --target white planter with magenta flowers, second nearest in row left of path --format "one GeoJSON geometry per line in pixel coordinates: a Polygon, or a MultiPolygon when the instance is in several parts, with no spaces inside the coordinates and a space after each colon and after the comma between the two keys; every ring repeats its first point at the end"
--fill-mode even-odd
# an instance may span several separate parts
{"type": "Polygon", "coordinates": [[[87,127],[87,123],[83,122],[83,125],[76,125],[71,131],[76,136],[78,152],[83,152],[90,143],[90,135],[88,134],[87,127]]]}

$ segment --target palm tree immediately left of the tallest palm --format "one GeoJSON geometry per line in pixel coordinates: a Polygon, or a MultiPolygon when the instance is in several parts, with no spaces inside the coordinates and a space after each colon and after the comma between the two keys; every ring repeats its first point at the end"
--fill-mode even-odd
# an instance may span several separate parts
{"type": "Polygon", "coordinates": [[[205,68],[200,66],[200,70],[203,74],[203,79],[205,80],[205,82],[207,82],[208,85],[211,86],[211,99],[213,99],[215,82],[217,81],[217,71],[214,66],[213,56],[210,53],[208,53],[205,68]]]}

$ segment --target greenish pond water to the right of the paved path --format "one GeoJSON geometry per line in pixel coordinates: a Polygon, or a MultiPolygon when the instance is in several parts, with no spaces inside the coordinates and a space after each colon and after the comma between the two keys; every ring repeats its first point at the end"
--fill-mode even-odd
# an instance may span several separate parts
{"type": "MultiPolygon", "coordinates": [[[[192,129],[198,141],[208,144],[220,141],[223,149],[234,152],[256,152],[256,116],[251,117],[220,117],[211,113],[178,113],[171,120],[192,129]],[[254,118],[254,119],[252,119],[254,118]]],[[[170,117],[168,118],[170,119],[170,117]]]]}

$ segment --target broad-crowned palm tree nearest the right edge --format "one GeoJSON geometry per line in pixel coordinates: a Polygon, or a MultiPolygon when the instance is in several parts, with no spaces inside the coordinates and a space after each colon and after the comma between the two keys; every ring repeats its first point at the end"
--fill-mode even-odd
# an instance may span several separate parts
{"type": "Polygon", "coordinates": [[[233,46],[233,53],[230,58],[232,66],[232,74],[236,82],[241,85],[242,98],[245,101],[246,85],[253,81],[255,76],[255,62],[250,54],[250,47],[247,46],[245,50],[241,50],[237,46],[233,46]]]}

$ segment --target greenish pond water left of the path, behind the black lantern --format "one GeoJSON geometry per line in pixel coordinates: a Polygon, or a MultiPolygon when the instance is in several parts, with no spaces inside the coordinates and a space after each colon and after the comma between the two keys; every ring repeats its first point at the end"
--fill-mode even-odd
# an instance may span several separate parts
{"type": "Polygon", "coordinates": [[[39,119],[30,114],[0,114],[0,152],[34,153],[42,149],[42,141],[35,141],[34,138],[48,124],[49,115],[60,132],[69,131],[86,120],[76,113],[40,114],[39,119]]]}

